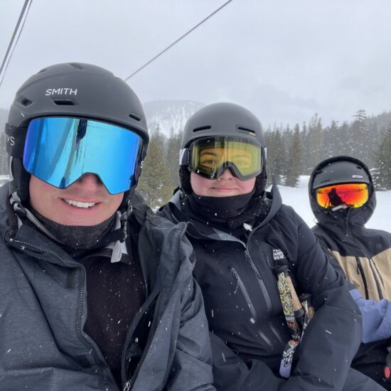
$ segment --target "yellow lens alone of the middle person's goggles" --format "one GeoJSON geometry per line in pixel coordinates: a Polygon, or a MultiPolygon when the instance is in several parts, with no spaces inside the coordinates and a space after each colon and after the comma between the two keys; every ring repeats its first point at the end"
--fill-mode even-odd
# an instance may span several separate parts
{"type": "Polygon", "coordinates": [[[262,149],[245,141],[195,141],[191,166],[195,172],[213,176],[226,164],[235,166],[240,176],[248,177],[261,169],[262,149]]]}

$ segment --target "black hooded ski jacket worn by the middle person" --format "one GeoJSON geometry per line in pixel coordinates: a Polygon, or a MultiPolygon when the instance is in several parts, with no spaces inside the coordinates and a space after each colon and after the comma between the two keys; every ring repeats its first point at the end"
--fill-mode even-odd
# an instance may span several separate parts
{"type": "MultiPolygon", "coordinates": [[[[218,390],[342,390],[361,339],[360,312],[346,280],[331,267],[309,227],[283,205],[277,188],[264,220],[245,240],[193,221],[193,274],[203,291],[218,390]],[[286,259],[299,294],[309,293],[316,315],[309,323],[294,370],[278,376],[290,338],[275,267],[286,259]]],[[[180,193],[161,208],[187,220],[180,193]]]]}

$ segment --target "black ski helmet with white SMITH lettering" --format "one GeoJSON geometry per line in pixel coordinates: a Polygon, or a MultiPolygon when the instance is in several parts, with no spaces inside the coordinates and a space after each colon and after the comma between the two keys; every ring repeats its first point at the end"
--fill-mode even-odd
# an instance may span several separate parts
{"type": "Polygon", "coordinates": [[[9,193],[16,193],[22,203],[29,195],[30,174],[23,167],[28,124],[31,119],[50,116],[87,117],[132,129],[144,140],[145,156],[149,136],[144,110],[126,82],[96,65],[50,65],[21,85],[6,123],[6,147],[11,156],[9,193]]]}

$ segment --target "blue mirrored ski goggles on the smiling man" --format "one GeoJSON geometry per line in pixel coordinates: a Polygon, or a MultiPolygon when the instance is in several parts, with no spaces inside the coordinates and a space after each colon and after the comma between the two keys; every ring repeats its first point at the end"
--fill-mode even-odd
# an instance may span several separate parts
{"type": "Polygon", "coordinates": [[[139,134],[84,118],[42,117],[28,124],[23,166],[56,188],[94,173],[111,194],[139,180],[144,142],[139,134]]]}

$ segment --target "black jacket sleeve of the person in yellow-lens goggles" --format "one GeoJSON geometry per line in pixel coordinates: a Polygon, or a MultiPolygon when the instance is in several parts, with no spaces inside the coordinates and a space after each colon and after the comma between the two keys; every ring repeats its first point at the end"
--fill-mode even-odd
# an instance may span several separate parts
{"type": "MultiPolygon", "coordinates": [[[[296,215],[296,213],[295,213],[296,215]]],[[[297,243],[289,254],[301,293],[312,296],[314,318],[306,328],[299,360],[289,378],[294,389],[342,390],[350,363],[360,346],[361,314],[343,274],[328,262],[314,234],[296,215],[297,243]]]]}

